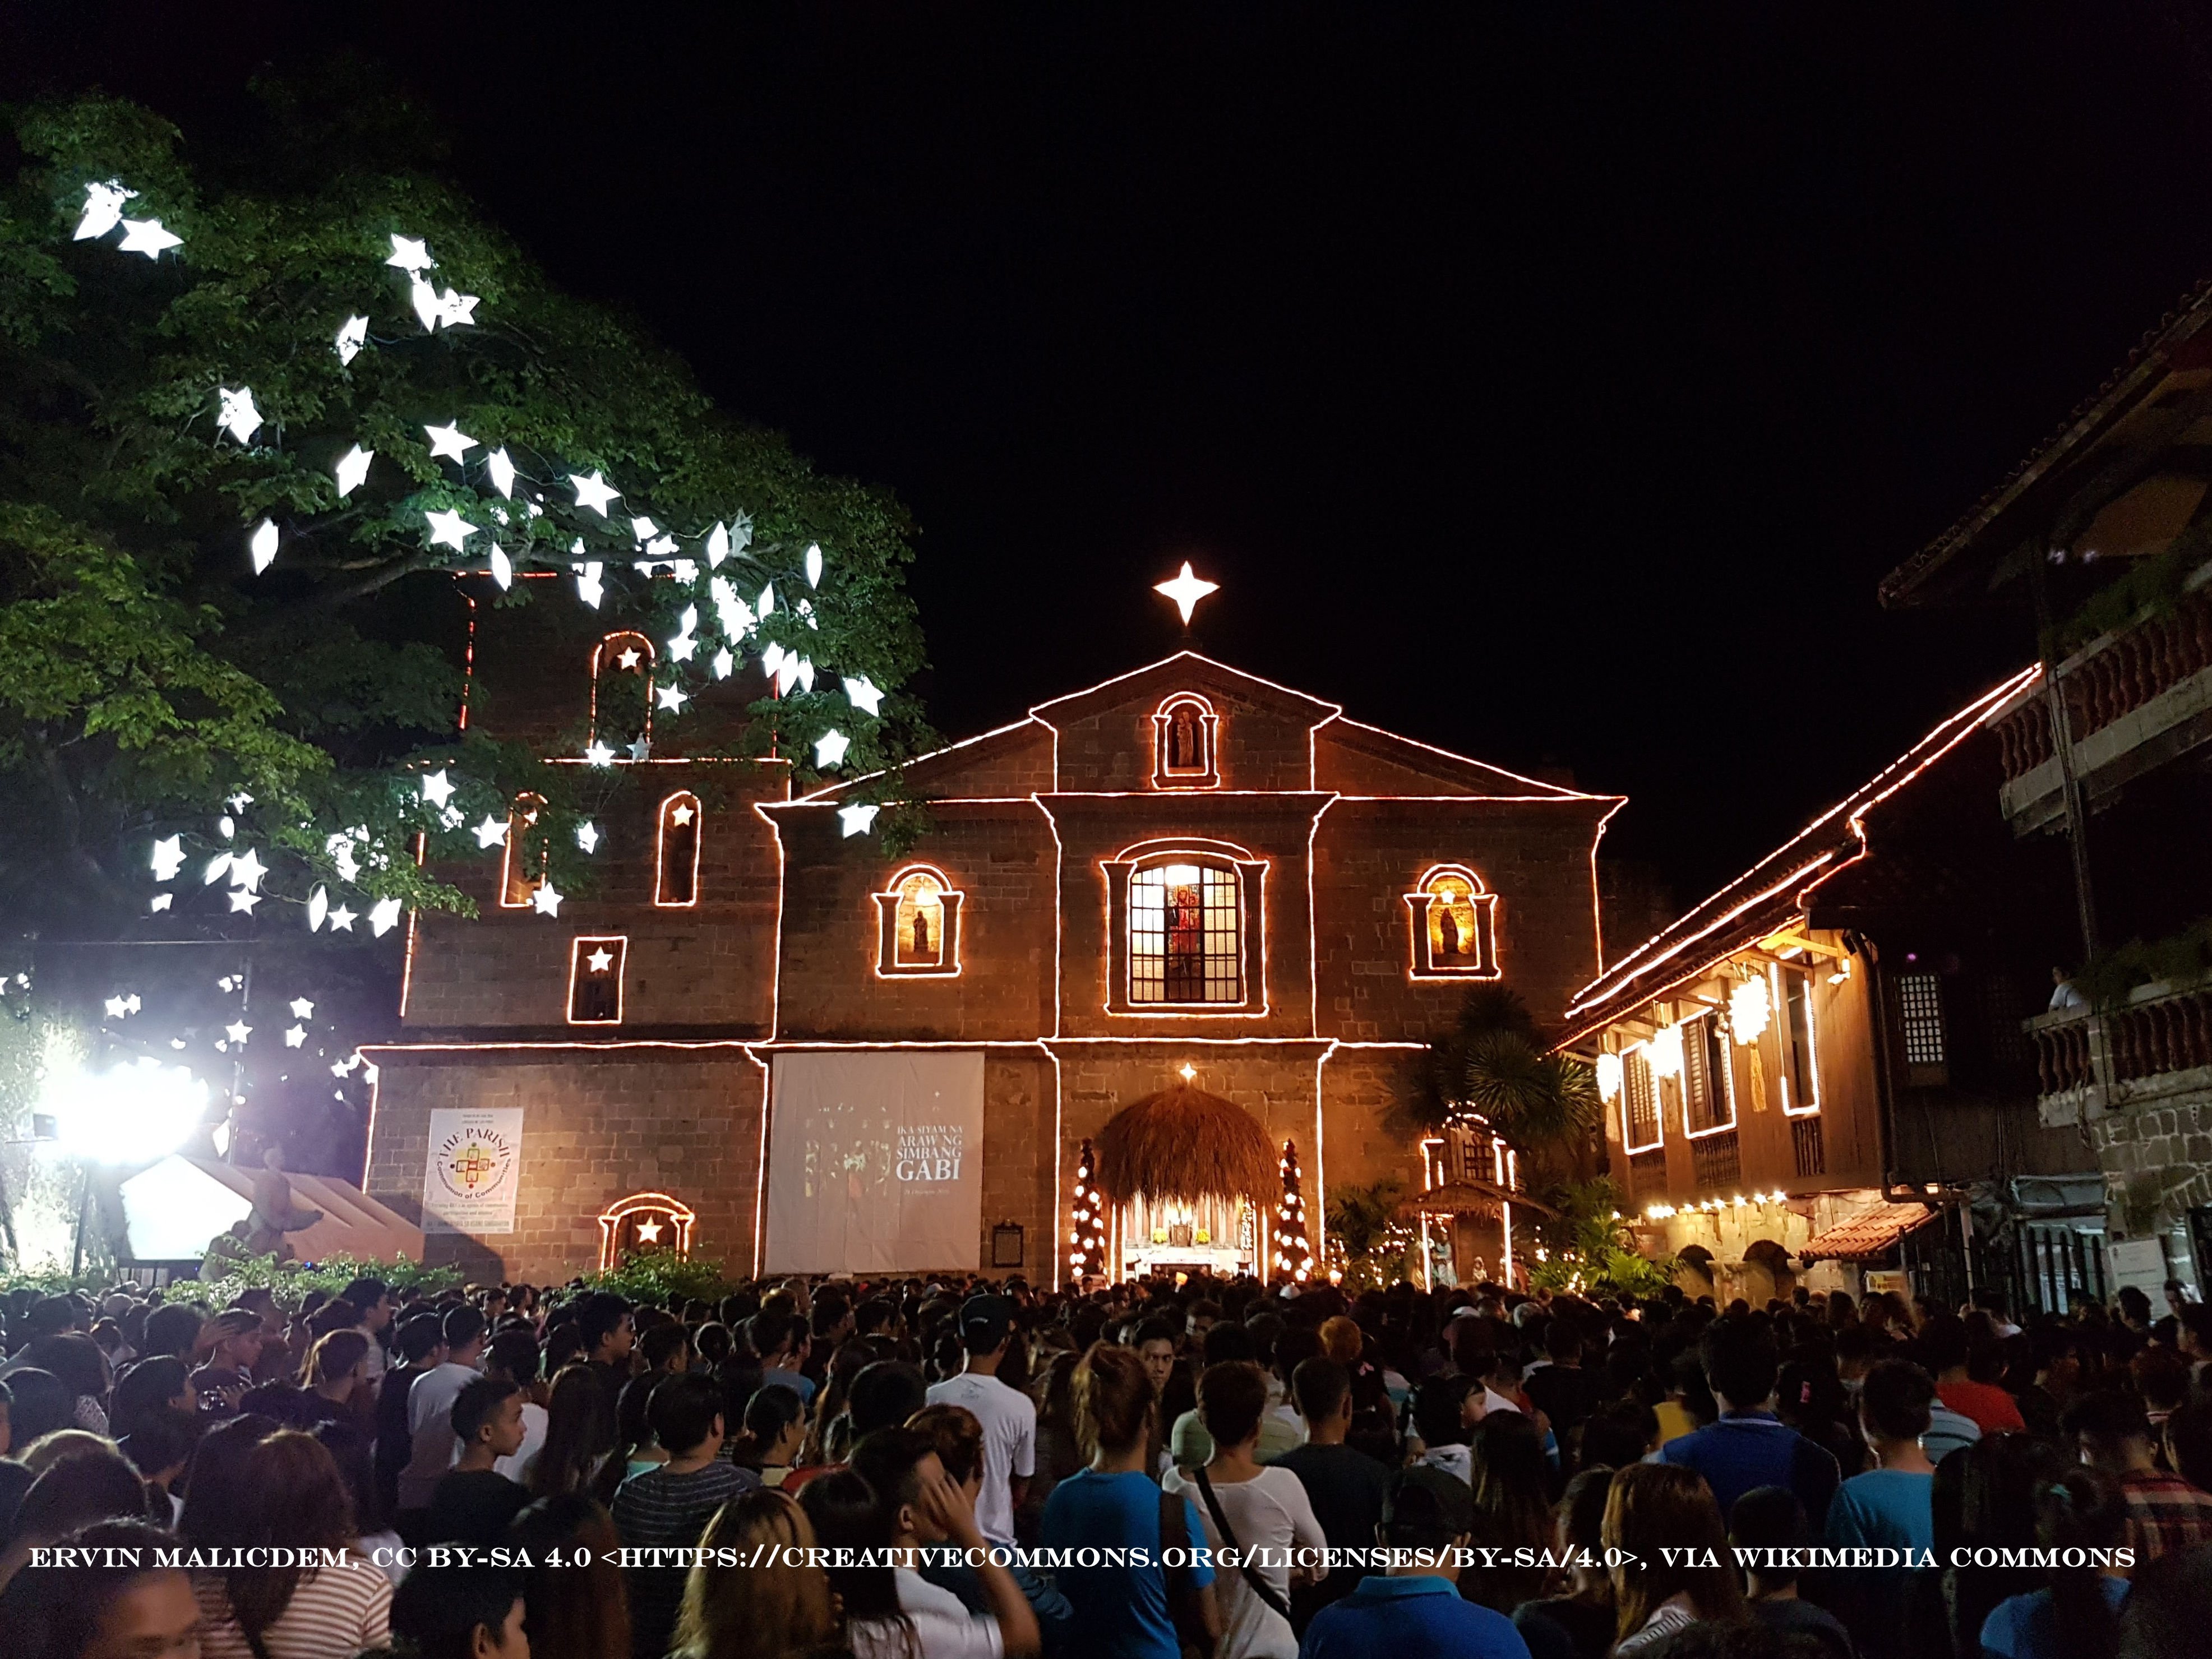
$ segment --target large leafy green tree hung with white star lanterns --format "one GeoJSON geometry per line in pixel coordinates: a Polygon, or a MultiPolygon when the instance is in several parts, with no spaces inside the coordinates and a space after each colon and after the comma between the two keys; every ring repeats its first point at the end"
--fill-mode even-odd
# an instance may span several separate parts
{"type": "Polygon", "coordinates": [[[482,856],[471,830],[522,790],[549,801],[551,878],[586,887],[568,830],[622,768],[456,734],[460,668],[420,617],[425,584],[460,571],[489,568],[504,604],[599,588],[599,615],[668,639],[695,688],[750,686],[730,748],[774,741],[803,779],[927,739],[898,692],[922,666],[900,507],[562,294],[425,166],[385,88],[265,88],[257,128],[190,161],[113,97],[18,111],[13,137],[11,914],[119,931],[170,836],[195,874],[239,852],[254,874],[177,883],[161,927],[250,929],[261,898],[299,916],[316,887],[361,914],[467,909],[436,867],[482,856]],[[449,796],[425,794],[434,774],[449,796]]]}

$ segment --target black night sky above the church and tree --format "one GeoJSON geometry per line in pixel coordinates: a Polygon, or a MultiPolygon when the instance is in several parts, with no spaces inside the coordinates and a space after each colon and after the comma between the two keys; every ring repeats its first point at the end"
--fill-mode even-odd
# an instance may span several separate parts
{"type": "Polygon", "coordinates": [[[341,46],[894,489],[949,737],[1181,644],[1632,803],[1681,900],[2026,659],[1876,580],[2212,274],[2212,22],[15,0],[188,131],[341,46]],[[323,13],[343,13],[330,18],[323,13]]]}

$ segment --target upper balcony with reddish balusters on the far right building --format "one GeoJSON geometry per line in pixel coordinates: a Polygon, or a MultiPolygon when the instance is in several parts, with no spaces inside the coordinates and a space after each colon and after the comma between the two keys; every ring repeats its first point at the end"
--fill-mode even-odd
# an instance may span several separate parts
{"type": "MultiPolygon", "coordinates": [[[[2212,739],[2212,564],[2190,577],[2172,615],[2093,639],[2057,679],[2075,776],[2093,801],[2212,739]]],[[[2024,690],[1991,730],[2013,830],[2064,816],[2044,688],[2024,690]]]]}

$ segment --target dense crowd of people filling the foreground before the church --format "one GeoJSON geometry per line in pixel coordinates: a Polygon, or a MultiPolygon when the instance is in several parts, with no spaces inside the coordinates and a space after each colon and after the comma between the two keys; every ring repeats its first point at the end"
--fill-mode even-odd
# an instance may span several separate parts
{"type": "Polygon", "coordinates": [[[0,1303],[7,1652],[2212,1652],[2179,1285],[195,1290],[0,1303]]]}

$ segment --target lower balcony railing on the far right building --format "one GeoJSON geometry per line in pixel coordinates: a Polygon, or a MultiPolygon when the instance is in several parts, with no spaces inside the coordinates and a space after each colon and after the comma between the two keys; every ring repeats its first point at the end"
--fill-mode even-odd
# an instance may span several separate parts
{"type": "Polygon", "coordinates": [[[2026,1029],[2046,1124],[2212,1086],[2212,980],[2143,984],[2115,1009],[2039,1013],[2026,1029]]]}

